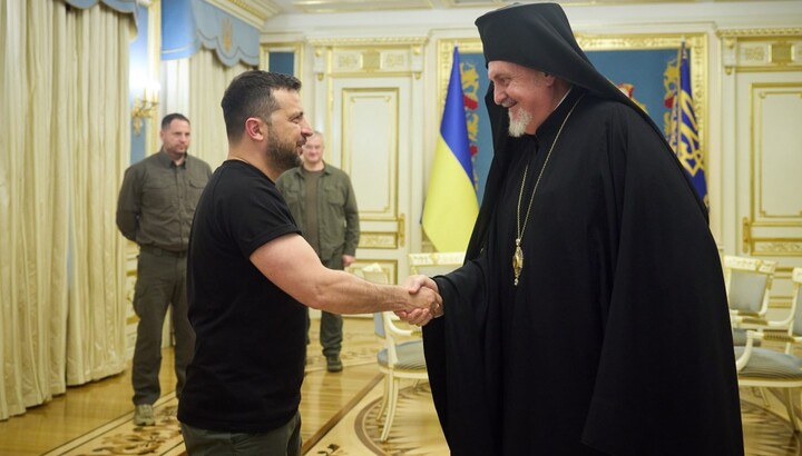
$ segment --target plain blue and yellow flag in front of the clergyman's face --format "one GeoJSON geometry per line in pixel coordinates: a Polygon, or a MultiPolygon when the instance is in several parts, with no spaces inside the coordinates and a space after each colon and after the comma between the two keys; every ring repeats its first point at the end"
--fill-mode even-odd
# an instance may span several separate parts
{"type": "Polygon", "coordinates": [[[438,251],[464,251],[479,214],[457,47],[434,162],[429,177],[423,230],[438,251]]]}

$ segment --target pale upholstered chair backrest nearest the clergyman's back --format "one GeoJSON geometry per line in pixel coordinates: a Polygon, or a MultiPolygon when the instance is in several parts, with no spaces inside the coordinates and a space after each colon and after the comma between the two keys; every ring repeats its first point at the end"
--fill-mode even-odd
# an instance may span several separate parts
{"type": "Polygon", "coordinates": [[[775,269],[776,261],[725,255],[724,281],[730,308],[764,315],[775,269]]]}

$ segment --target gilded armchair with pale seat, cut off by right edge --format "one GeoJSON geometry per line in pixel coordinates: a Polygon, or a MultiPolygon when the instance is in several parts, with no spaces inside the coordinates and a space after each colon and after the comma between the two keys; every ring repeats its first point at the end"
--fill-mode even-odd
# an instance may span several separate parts
{"type": "MultiPolygon", "coordinates": [[[[793,406],[793,390],[802,388],[802,359],[793,354],[794,346],[802,343],[802,268],[792,272],[793,300],[791,314],[794,316],[786,333],[746,331],[745,345],[735,347],[735,367],[739,386],[756,388],[783,388],[784,402],[789,420],[794,432],[799,432],[793,406]],[[785,344],[783,353],[769,348],[756,347],[757,340],[773,340],[785,344]]],[[[764,403],[766,402],[764,397],[764,403]]]]}

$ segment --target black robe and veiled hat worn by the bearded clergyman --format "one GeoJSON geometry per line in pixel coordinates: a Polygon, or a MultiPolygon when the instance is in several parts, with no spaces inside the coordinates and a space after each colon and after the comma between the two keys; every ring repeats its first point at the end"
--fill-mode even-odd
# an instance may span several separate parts
{"type": "Polygon", "coordinates": [[[569,89],[517,138],[488,92],[485,199],[466,264],[434,278],[444,316],[423,328],[452,454],[743,454],[717,249],[659,129],[593,67],[559,6],[477,26],[489,67],[569,89]]]}

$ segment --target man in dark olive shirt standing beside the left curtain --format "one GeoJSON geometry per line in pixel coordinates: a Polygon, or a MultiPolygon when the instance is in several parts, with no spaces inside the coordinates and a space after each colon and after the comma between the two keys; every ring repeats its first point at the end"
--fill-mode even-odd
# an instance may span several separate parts
{"type": "Polygon", "coordinates": [[[186,252],[195,205],[212,168],[188,153],[189,119],[174,112],[162,119],[162,150],[131,165],[117,204],[117,227],[139,246],[134,310],[137,323],[131,361],[134,424],[156,424],[153,404],[162,396],[162,333],[172,308],[176,397],[184,388],[195,345],[187,319],[186,252]]]}

